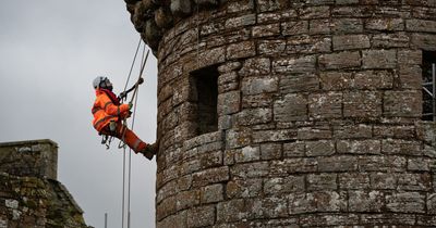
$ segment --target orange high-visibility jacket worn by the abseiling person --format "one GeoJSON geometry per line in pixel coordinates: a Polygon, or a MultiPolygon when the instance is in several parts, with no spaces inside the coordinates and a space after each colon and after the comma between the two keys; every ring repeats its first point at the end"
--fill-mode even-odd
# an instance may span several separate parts
{"type": "Polygon", "coordinates": [[[100,89],[96,89],[96,97],[92,112],[94,115],[93,126],[98,132],[111,121],[117,122],[120,117],[129,116],[129,104],[116,105],[100,89]]]}

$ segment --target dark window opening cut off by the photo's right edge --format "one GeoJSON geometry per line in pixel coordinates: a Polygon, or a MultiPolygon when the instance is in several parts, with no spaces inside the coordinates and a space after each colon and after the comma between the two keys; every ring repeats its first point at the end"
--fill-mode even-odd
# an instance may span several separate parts
{"type": "Polygon", "coordinates": [[[436,52],[423,51],[423,121],[436,121],[436,103],[434,96],[436,93],[436,52]]]}

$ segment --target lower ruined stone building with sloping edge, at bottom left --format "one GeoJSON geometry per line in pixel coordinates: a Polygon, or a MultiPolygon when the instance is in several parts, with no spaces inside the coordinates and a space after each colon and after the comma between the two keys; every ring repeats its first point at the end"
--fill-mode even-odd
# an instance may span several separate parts
{"type": "Polygon", "coordinates": [[[57,168],[51,140],[0,143],[0,228],[88,228],[57,168]]]}

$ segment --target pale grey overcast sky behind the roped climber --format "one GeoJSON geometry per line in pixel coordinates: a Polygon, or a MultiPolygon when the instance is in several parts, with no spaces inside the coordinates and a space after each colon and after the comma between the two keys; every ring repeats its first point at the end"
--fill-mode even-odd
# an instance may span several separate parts
{"type": "MultiPolygon", "coordinates": [[[[122,150],[107,151],[92,127],[92,81],[124,87],[140,35],[123,0],[2,0],[0,5],[0,142],[51,139],[58,179],[87,225],[121,227],[122,150]]],[[[150,54],[152,56],[152,54],[150,54]]],[[[137,77],[138,69],[132,77],[137,77]]],[[[156,59],[140,88],[135,131],[156,139],[156,59]]],[[[133,81],[131,83],[133,84],[133,81]]],[[[132,155],[131,228],[155,227],[155,160],[132,155]]]]}

